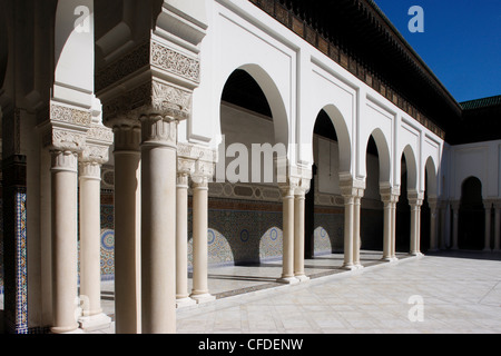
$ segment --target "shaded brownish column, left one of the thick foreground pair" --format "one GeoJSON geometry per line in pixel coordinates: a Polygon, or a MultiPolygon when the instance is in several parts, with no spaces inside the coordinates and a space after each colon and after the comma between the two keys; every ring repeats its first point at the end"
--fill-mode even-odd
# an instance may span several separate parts
{"type": "Polygon", "coordinates": [[[140,151],[138,121],[115,132],[115,330],[140,333],[140,151]]]}

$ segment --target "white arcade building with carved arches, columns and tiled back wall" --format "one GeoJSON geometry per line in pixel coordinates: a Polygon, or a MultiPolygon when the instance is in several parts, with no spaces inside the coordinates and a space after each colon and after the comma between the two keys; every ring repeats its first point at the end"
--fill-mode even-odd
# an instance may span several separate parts
{"type": "Polygon", "coordinates": [[[449,129],[501,100],[459,105],[406,67],[373,1],[333,13],[360,11],[440,95],[306,1],[46,2],[0,2],[8,333],[109,324],[105,279],[117,333],[175,333],[176,308],[215,299],[209,266],[278,260],[299,284],[327,254],[500,250],[500,138],[449,129]]]}

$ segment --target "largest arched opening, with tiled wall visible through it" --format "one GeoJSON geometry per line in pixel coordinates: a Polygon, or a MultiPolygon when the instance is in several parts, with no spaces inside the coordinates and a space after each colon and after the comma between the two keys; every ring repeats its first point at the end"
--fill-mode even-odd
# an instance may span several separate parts
{"type": "Polygon", "coordinates": [[[236,69],[220,98],[223,142],[218,165],[222,168],[217,170],[224,175],[218,171],[218,182],[209,189],[208,224],[228,241],[234,260],[227,263],[235,265],[282,258],[283,214],[275,172],[277,157],[286,151],[276,145],[279,140],[275,130],[276,109],[274,99],[266,95],[265,89],[271,90],[266,80],[271,79],[263,81],[265,77],[255,66],[236,69]],[[265,145],[277,150],[255,150],[265,145]],[[274,172],[272,181],[265,175],[271,170],[269,165],[274,172]],[[256,170],[261,171],[257,176],[256,170]]]}

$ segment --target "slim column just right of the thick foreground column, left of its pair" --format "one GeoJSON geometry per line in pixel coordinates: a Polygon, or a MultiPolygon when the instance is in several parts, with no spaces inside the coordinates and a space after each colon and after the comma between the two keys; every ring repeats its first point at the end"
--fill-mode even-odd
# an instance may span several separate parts
{"type": "Polygon", "coordinates": [[[176,306],[194,305],[188,293],[188,184],[189,170],[177,174],[176,197],[176,306]]]}

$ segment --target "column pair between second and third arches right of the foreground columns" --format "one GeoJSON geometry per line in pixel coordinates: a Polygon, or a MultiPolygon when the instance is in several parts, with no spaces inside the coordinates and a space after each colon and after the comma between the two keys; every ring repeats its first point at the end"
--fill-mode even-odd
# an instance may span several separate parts
{"type": "Polygon", "coordinates": [[[344,269],[362,269],[360,263],[360,217],[361,201],[365,191],[364,181],[341,181],[344,198],[344,269]]]}

